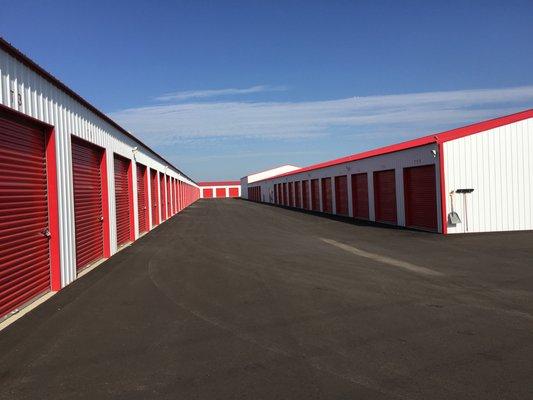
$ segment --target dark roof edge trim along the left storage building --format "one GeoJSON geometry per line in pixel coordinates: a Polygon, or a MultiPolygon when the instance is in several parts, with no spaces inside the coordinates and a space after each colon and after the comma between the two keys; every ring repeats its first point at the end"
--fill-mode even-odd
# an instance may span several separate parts
{"type": "Polygon", "coordinates": [[[183,175],[185,178],[189,179],[191,182],[194,182],[193,179],[189,178],[187,175],[185,175],[181,170],[173,166],[170,162],[165,160],[162,156],[157,154],[154,150],[152,150],[150,147],[148,147],[146,144],[141,142],[139,139],[137,139],[135,136],[133,136],[131,133],[129,133],[126,129],[121,127],[119,124],[117,124],[115,121],[113,121],[111,118],[109,118],[107,115],[105,115],[102,111],[98,110],[95,106],[93,106],[91,103],[89,103],[87,100],[85,100],[83,97],[81,97],[79,94],[74,92],[72,89],[70,89],[67,85],[65,85],[63,82],[61,82],[59,79],[57,79],[55,76],[53,76],[51,73],[43,69],[41,66],[39,66],[35,61],[31,60],[28,56],[26,56],[24,53],[22,53],[20,50],[18,50],[16,47],[14,47],[11,43],[0,37],[0,49],[4,50],[6,53],[8,53],[10,56],[15,58],[17,61],[24,64],[26,67],[31,69],[32,71],[36,72],[38,75],[46,79],[48,82],[50,82],[52,85],[57,87],[59,90],[65,92],[70,97],[72,97],[74,100],[76,100],[78,103],[81,103],[84,107],[88,108],[90,111],[98,115],[100,118],[102,118],[104,121],[106,121],[108,124],[113,126],[114,128],[118,129],[120,132],[122,132],[124,135],[129,137],[130,139],[133,139],[137,143],[139,143],[141,146],[146,148],[148,151],[150,151],[153,155],[163,160],[165,163],[167,163],[170,167],[174,168],[176,172],[183,175]]]}

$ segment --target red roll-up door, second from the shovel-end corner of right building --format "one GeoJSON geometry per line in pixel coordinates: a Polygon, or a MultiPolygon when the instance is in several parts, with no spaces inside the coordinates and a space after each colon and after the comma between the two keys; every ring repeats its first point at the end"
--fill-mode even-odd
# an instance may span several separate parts
{"type": "Polygon", "coordinates": [[[393,169],[374,172],[374,204],[376,221],[397,223],[396,178],[393,169]]]}

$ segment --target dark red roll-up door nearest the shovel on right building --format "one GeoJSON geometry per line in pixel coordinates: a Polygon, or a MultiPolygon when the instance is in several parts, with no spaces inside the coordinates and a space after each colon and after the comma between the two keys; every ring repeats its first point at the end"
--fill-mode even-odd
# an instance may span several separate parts
{"type": "Polygon", "coordinates": [[[405,225],[437,230],[437,186],[435,165],[403,170],[405,225]]]}

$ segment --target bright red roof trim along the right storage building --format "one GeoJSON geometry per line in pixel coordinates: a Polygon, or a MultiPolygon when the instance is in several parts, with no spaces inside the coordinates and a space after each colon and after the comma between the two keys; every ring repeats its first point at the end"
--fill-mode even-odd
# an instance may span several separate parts
{"type": "Polygon", "coordinates": [[[317,169],[331,167],[334,165],[344,164],[344,163],[352,162],[352,161],[358,161],[358,160],[362,160],[365,158],[381,156],[384,154],[395,153],[397,151],[425,146],[431,143],[444,143],[450,140],[459,139],[465,136],[473,135],[479,132],[487,131],[489,129],[494,129],[494,128],[497,128],[503,125],[508,125],[513,122],[522,121],[528,118],[533,118],[533,109],[521,111],[516,114],[506,115],[504,117],[499,117],[499,118],[494,118],[494,119],[490,119],[487,121],[478,122],[472,125],[463,126],[461,128],[451,129],[449,131],[444,131],[444,132],[440,132],[440,133],[429,135],[429,136],[423,136],[418,139],[408,140],[406,142],[401,142],[401,143],[393,144],[390,146],[380,147],[378,149],[365,151],[363,153],[352,154],[350,156],[336,158],[334,160],[325,161],[325,162],[318,163],[318,164],[313,164],[308,167],[300,168],[300,169],[297,169],[291,172],[286,172],[284,174],[272,176],[270,178],[261,179],[260,181],[257,181],[257,182],[263,182],[263,181],[270,180],[270,179],[282,178],[285,176],[301,174],[303,172],[314,171],[317,169]]]}

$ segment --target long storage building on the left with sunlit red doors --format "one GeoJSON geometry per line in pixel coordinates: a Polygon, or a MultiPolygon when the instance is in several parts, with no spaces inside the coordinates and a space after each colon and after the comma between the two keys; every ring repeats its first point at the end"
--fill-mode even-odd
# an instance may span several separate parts
{"type": "Polygon", "coordinates": [[[0,168],[0,319],[199,197],[194,181],[2,39],[0,168]]]}

